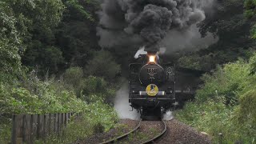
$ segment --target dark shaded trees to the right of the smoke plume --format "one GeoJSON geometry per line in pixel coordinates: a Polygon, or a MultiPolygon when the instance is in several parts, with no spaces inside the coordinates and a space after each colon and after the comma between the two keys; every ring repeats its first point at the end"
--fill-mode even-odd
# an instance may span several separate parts
{"type": "Polygon", "coordinates": [[[243,14],[243,0],[220,0],[212,9],[213,13],[206,13],[206,20],[198,26],[202,36],[210,32],[218,37],[218,42],[185,55],[194,57],[190,58],[195,61],[191,63],[200,63],[201,69],[207,71],[238,58],[249,59],[250,52],[256,50],[255,42],[250,38],[250,26],[254,22],[243,14]]]}

